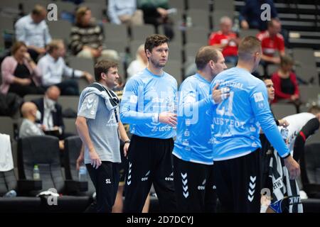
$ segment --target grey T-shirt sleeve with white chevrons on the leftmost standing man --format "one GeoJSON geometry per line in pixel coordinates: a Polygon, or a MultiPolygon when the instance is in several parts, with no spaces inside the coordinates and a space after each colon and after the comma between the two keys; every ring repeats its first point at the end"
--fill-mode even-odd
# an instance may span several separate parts
{"type": "Polygon", "coordinates": [[[78,111],[78,116],[95,119],[98,104],[99,96],[97,96],[97,94],[88,94],[82,101],[78,111]]]}

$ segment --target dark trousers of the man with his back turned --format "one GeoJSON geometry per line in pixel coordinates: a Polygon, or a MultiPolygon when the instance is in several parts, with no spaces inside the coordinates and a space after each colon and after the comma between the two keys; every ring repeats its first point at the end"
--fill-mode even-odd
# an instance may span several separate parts
{"type": "Polygon", "coordinates": [[[213,171],[223,212],[260,212],[260,149],[230,160],[214,161],[213,171]]]}

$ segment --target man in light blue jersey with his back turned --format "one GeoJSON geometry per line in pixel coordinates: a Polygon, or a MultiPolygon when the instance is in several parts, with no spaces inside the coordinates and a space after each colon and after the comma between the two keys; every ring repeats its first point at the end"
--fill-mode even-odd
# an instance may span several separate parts
{"type": "Polygon", "coordinates": [[[220,72],[210,85],[211,89],[216,84],[230,88],[229,98],[212,111],[214,174],[223,211],[260,211],[260,126],[283,158],[290,177],[300,174],[274,122],[265,83],[251,74],[261,54],[260,41],[245,37],[238,48],[237,67],[220,72]]]}

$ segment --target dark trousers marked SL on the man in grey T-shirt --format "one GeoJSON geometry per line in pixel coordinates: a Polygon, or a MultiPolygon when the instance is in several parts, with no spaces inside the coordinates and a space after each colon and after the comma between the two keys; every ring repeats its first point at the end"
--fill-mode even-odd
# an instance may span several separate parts
{"type": "Polygon", "coordinates": [[[86,164],[97,194],[97,212],[111,213],[119,184],[119,163],[103,161],[100,167],[86,164]]]}

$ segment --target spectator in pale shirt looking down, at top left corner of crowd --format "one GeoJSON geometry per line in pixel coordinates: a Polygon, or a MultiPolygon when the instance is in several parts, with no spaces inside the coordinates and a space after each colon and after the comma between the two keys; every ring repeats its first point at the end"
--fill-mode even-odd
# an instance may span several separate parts
{"type": "Polygon", "coordinates": [[[39,55],[46,53],[46,45],[51,41],[46,16],[46,8],[36,5],[30,14],[18,19],[15,24],[16,40],[26,43],[35,62],[39,55]]]}

